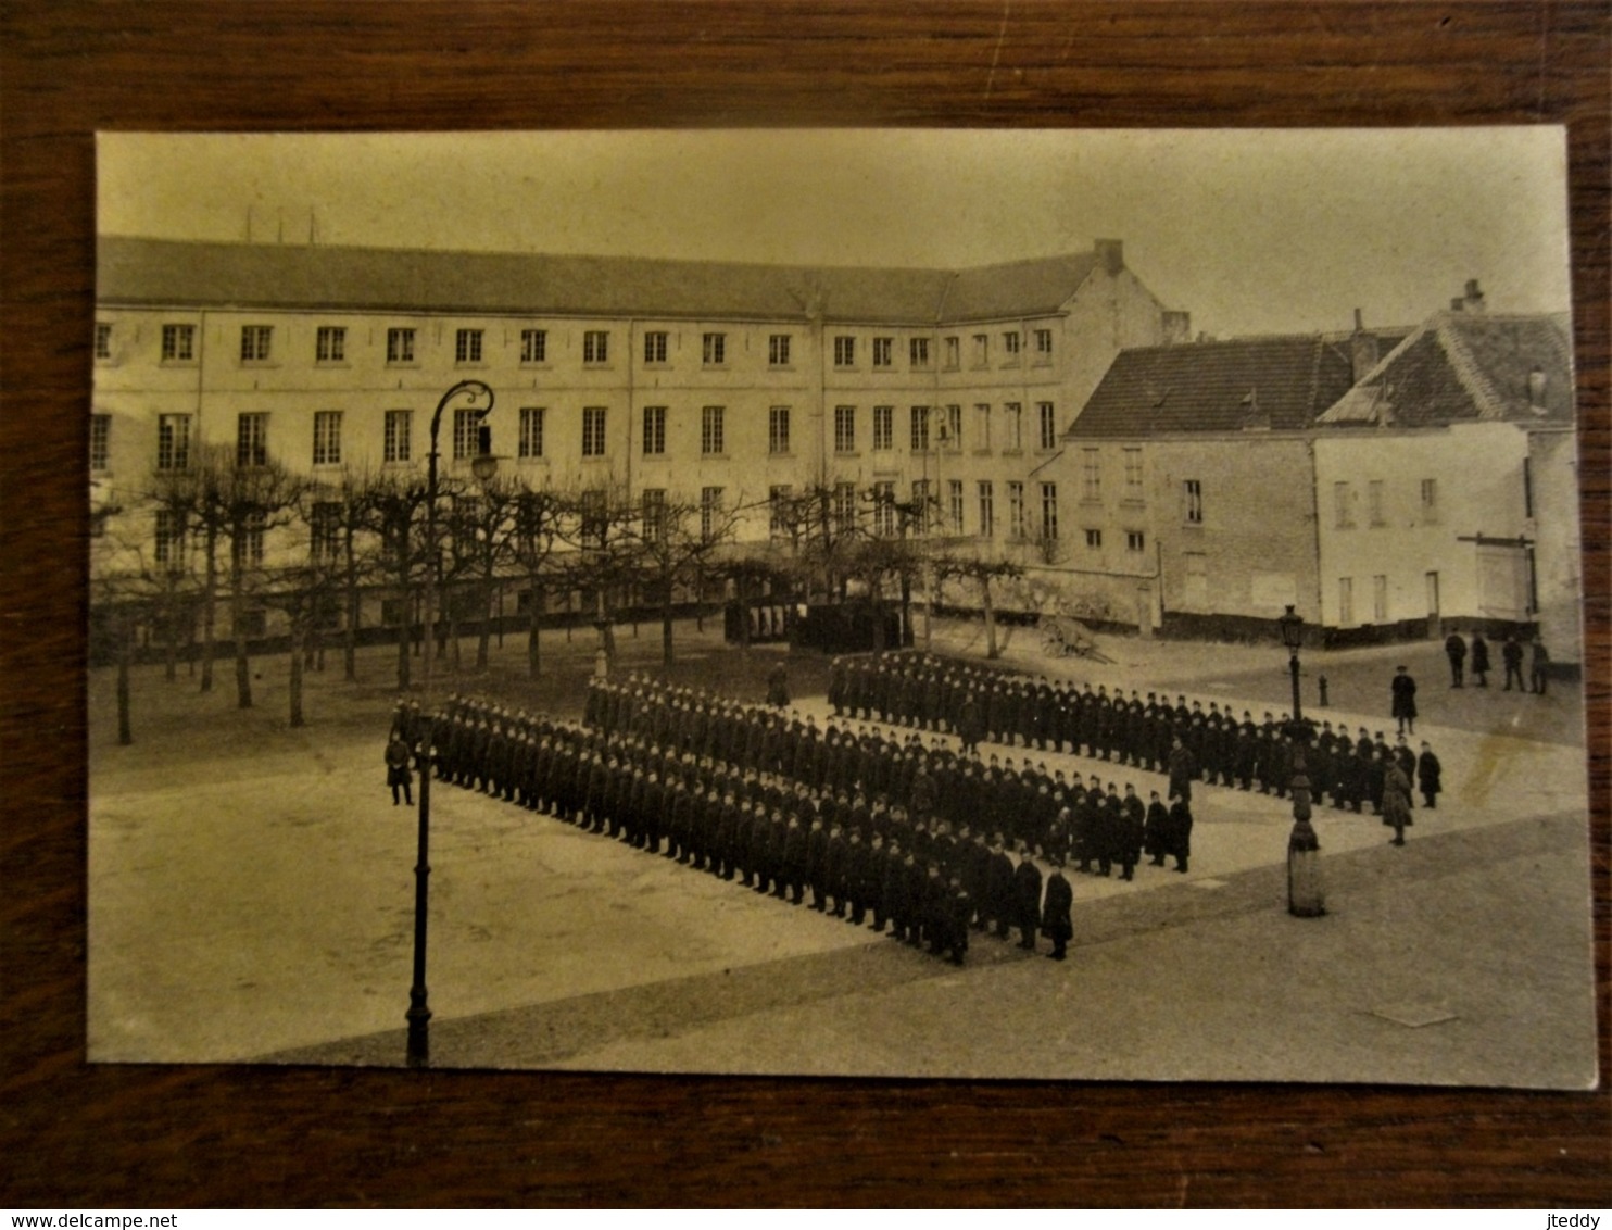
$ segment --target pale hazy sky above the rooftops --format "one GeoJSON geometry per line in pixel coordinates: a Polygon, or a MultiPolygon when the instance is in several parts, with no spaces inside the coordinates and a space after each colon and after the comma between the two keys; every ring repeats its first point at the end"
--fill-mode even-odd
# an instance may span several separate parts
{"type": "Polygon", "coordinates": [[[1565,311],[1560,127],[102,134],[103,234],[967,268],[1125,242],[1217,337],[1565,311]],[[250,232],[248,232],[250,226],[250,232]]]}

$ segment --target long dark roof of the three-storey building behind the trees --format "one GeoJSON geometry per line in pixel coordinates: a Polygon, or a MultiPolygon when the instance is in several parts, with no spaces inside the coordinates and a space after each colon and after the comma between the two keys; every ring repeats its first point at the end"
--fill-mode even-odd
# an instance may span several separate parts
{"type": "Polygon", "coordinates": [[[103,303],[808,319],[932,326],[1059,311],[1095,251],[975,269],[192,243],[102,235],[103,303]]]}

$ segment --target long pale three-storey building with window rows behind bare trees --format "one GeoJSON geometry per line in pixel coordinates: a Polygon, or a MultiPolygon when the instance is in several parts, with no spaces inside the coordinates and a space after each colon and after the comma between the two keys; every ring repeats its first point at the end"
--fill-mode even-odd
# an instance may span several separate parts
{"type": "Polygon", "coordinates": [[[474,406],[445,405],[432,438],[464,379],[493,390],[501,476],[534,488],[745,509],[761,540],[771,498],[821,487],[1027,551],[1062,530],[1069,497],[1038,474],[1114,355],[1188,329],[1117,240],[956,271],[123,237],[98,261],[92,498],[156,555],[153,484],[205,455],[335,488],[435,447],[467,476],[474,406]]]}

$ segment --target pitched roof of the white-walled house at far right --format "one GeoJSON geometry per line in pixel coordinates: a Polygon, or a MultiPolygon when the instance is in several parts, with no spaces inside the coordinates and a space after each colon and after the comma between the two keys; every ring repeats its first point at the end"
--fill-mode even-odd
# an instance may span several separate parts
{"type": "Polygon", "coordinates": [[[1320,416],[1325,427],[1572,422],[1565,316],[1441,311],[1320,416]],[[1530,385],[1533,372],[1543,389],[1530,385]],[[1538,397],[1535,395],[1538,392],[1538,397]]]}

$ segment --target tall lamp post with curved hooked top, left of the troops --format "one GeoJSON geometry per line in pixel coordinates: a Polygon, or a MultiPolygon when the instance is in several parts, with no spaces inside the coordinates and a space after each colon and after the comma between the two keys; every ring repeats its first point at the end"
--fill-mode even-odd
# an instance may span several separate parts
{"type": "MultiPolygon", "coordinates": [[[[435,414],[430,416],[430,455],[426,459],[426,700],[430,701],[430,666],[435,651],[435,592],[437,592],[437,432],[442,427],[442,411],[453,398],[469,393],[472,400],[484,397],[487,406],[477,416],[479,424],[485,422],[487,413],[493,408],[493,390],[480,380],[459,380],[442,395],[435,414]]],[[[477,456],[471,463],[472,472],[487,482],[498,467],[492,456],[490,429],[477,429],[477,456]]],[[[414,982],[408,991],[408,1066],[430,1066],[430,1008],[426,990],[426,933],[429,919],[429,880],[430,880],[430,779],[437,763],[437,716],[426,719],[426,730],[414,732],[414,767],[419,772],[419,833],[414,854],[414,982]]]]}

